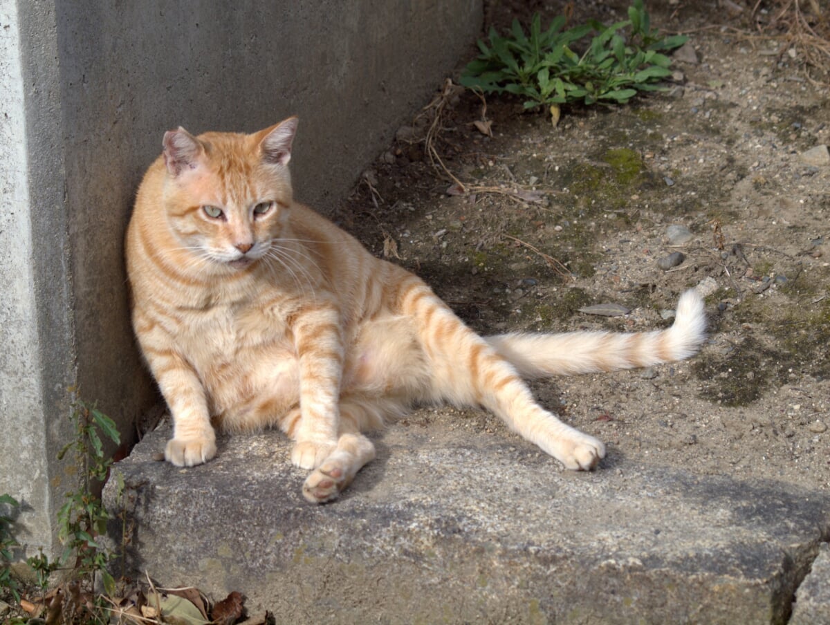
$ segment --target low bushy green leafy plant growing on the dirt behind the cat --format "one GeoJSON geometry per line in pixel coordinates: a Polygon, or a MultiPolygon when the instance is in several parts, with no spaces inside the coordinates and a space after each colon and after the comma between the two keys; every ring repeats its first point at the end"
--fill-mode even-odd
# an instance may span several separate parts
{"type": "MultiPolygon", "coordinates": [[[[671,59],[661,54],[686,43],[688,37],[660,37],[642,5],[634,0],[628,19],[611,26],[596,20],[563,30],[565,17],[554,19],[547,30],[536,13],[525,33],[518,20],[510,35],[490,29],[490,45],[479,40],[481,54],[461,74],[461,85],[485,93],[511,93],[525,98],[525,108],[558,107],[583,101],[625,103],[637,91],[662,90],[656,83],[671,75],[671,59]],[[592,32],[583,53],[574,47],[592,32]]],[[[554,120],[555,123],[555,120],[554,120]]]]}

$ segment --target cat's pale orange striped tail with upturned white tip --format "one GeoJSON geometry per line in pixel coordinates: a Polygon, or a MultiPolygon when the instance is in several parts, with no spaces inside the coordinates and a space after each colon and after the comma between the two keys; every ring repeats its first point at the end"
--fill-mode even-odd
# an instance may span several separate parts
{"type": "Polygon", "coordinates": [[[485,340],[525,378],[649,367],[696,354],[706,339],[706,314],[696,291],[677,302],[674,324],[652,332],[499,334],[485,340]]]}

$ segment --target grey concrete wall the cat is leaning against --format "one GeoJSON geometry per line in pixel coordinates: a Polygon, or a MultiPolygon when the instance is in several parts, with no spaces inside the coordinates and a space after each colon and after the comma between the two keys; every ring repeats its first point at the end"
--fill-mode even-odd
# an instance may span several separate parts
{"type": "Polygon", "coordinates": [[[325,212],[469,49],[481,0],[0,0],[0,493],[50,546],[81,396],[156,396],[129,328],[123,233],[164,130],[300,115],[296,197],[325,212]]]}

